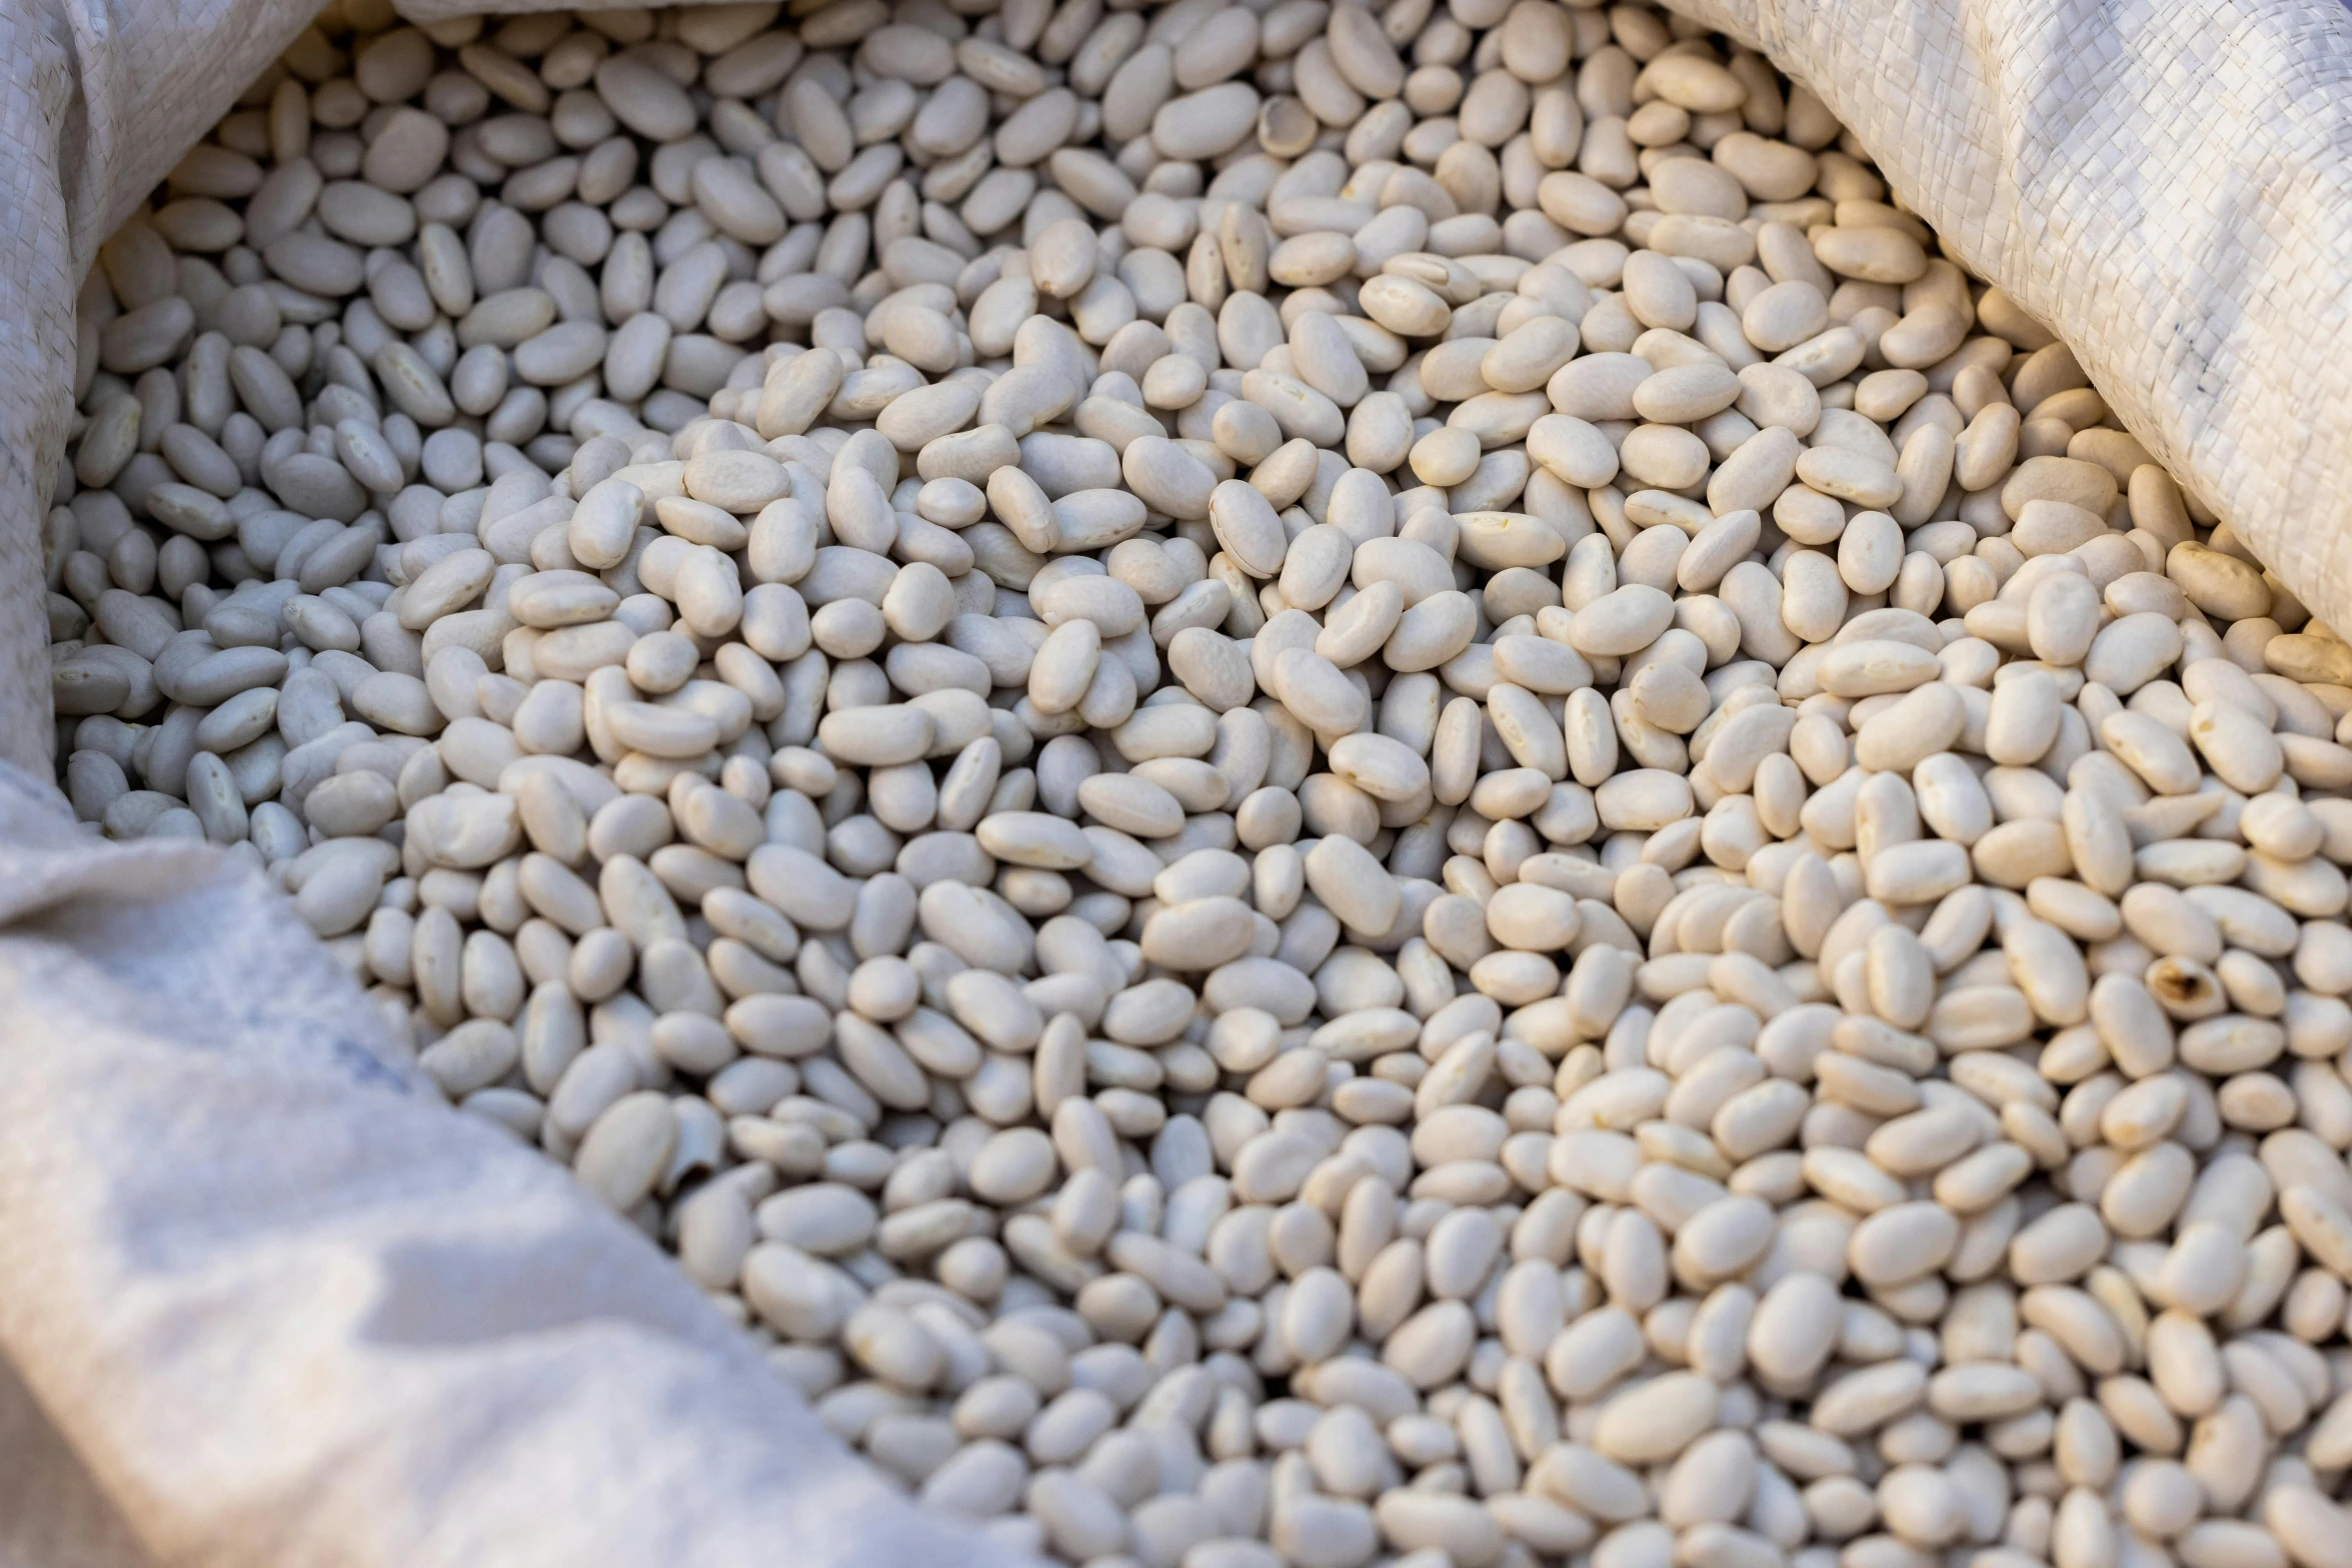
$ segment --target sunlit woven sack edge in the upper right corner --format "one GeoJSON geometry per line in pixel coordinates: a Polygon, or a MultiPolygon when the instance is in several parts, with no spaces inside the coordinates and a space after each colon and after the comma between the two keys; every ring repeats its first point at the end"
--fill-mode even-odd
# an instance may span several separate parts
{"type": "Polygon", "coordinates": [[[2343,0],[1661,0],[1762,49],[2352,628],[2343,0]]]}

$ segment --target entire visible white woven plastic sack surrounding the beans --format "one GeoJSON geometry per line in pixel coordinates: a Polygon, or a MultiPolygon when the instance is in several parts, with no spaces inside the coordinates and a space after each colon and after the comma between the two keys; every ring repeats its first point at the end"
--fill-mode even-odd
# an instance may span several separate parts
{"type": "MultiPolygon", "coordinates": [[[[1670,5],[1809,82],[2352,623],[2338,0],[1670,5]]],[[[442,1107],[256,877],[92,844],[45,783],[78,287],[308,9],[0,5],[0,1568],[1009,1563],[569,1175],[442,1107]]]]}

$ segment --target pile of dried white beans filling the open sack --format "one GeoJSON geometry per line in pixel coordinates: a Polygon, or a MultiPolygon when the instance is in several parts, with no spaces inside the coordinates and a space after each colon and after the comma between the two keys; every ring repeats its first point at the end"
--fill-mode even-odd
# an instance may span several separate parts
{"type": "Polygon", "coordinates": [[[793,9],[339,0],[108,242],[92,832],[1009,1544],[2352,1566],[2352,649],[1818,99],[793,9]]]}

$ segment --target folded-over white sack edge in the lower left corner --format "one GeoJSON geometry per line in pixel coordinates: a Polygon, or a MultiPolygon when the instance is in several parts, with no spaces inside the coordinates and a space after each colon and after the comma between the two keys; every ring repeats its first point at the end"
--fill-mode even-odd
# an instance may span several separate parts
{"type": "Polygon", "coordinates": [[[259,875],[7,766],[0,1359],[9,1568],[1016,1561],[452,1112],[259,875]]]}

